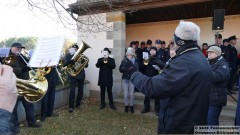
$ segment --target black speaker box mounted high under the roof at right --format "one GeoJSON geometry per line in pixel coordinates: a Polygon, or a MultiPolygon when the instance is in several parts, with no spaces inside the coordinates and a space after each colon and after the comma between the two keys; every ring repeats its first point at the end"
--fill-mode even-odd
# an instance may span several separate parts
{"type": "Polygon", "coordinates": [[[223,30],[225,9],[215,9],[212,22],[212,30],[223,30]]]}

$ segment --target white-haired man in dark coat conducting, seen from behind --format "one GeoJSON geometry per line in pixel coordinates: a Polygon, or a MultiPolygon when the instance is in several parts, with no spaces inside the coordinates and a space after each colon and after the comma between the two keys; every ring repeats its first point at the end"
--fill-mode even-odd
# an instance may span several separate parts
{"type": "Polygon", "coordinates": [[[160,98],[158,133],[193,134],[207,125],[211,67],[197,45],[200,28],[181,21],[174,34],[176,55],[161,74],[147,77],[132,66],[131,81],[148,97],[160,98]]]}

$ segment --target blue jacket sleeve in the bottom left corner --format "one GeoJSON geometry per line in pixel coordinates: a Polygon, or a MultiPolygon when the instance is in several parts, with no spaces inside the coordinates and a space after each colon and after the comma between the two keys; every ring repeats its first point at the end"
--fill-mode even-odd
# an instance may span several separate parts
{"type": "Polygon", "coordinates": [[[12,135],[12,113],[0,109],[0,135],[12,135]]]}

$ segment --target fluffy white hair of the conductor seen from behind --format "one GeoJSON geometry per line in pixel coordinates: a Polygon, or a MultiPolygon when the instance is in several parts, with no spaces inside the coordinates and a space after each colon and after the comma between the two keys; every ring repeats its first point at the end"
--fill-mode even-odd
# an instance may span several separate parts
{"type": "Polygon", "coordinates": [[[200,28],[193,22],[180,21],[175,35],[183,40],[197,41],[200,39],[200,28]]]}

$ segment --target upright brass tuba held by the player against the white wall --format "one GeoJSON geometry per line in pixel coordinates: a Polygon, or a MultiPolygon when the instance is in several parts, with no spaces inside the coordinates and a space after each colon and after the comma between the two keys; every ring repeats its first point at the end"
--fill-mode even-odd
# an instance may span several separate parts
{"type": "Polygon", "coordinates": [[[71,76],[76,76],[79,74],[83,68],[88,64],[88,57],[86,57],[84,54],[82,54],[86,49],[91,48],[87,43],[83,42],[81,43],[81,48],[77,50],[77,52],[73,55],[71,60],[74,60],[74,64],[69,64],[66,68],[67,73],[69,73],[71,76]]]}

